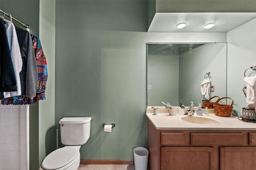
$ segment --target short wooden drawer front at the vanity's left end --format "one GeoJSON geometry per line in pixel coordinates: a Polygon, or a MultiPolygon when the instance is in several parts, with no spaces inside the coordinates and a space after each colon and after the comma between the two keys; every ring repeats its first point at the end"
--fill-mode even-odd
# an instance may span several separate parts
{"type": "Polygon", "coordinates": [[[185,137],[183,132],[162,132],[162,145],[184,145],[185,137]]]}

